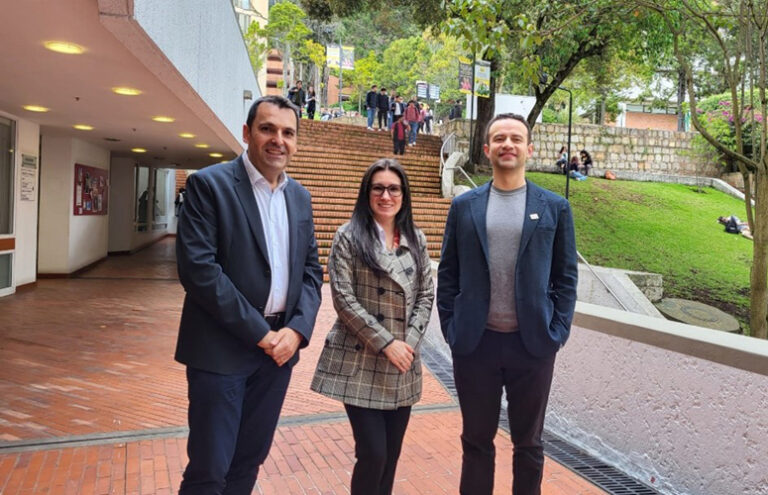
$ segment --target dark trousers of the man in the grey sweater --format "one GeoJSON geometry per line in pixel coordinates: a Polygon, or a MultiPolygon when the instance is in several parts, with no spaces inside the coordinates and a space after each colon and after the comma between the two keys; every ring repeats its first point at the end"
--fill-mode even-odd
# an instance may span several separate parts
{"type": "Polygon", "coordinates": [[[509,430],[514,444],[513,495],[539,495],[544,470],[541,433],[552,384],[555,356],[528,354],[519,333],[486,330],[471,354],[453,356],[463,431],[460,493],[490,495],[499,425],[501,392],[507,393],[509,430]]]}

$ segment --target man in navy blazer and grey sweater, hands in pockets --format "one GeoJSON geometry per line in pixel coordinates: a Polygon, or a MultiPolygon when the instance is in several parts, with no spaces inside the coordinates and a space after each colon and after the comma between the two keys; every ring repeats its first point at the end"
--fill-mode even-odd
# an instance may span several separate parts
{"type": "Polygon", "coordinates": [[[541,434],[555,353],[576,304],[568,201],[525,178],[530,127],[501,114],[486,128],[492,182],[455,198],[438,269],[437,307],[462,413],[460,493],[490,495],[502,389],[514,443],[513,493],[541,493],[541,434]]]}

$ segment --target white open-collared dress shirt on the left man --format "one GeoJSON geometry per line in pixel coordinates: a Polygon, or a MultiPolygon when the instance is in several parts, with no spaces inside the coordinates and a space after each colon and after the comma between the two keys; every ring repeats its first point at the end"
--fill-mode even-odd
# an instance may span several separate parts
{"type": "Polygon", "coordinates": [[[269,267],[272,271],[272,285],[269,288],[267,304],[264,306],[264,314],[282,313],[285,311],[285,303],[288,299],[290,274],[290,267],[288,266],[290,233],[288,209],[285,204],[285,187],[288,184],[288,176],[285,172],[280,174],[278,185],[273,191],[267,179],[248,159],[247,152],[242,154],[242,158],[243,163],[245,163],[245,171],[251,181],[253,196],[259,207],[259,216],[267,244],[269,267]]]}

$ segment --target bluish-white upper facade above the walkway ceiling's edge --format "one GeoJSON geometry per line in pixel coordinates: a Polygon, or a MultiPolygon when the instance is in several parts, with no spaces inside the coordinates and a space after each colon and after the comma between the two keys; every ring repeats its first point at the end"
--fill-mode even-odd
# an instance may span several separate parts
{"type": "Polygon", "coordinates": [[[231,0],[134,0],[134,18],[237,142],[260,96],[231,0]],[[190,33],[192,35],[190,36],[190,33]]]}

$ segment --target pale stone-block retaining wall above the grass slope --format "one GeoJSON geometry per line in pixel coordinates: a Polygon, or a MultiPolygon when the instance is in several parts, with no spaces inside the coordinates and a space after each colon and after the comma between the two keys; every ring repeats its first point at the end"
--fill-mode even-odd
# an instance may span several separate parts
{"type": "MultiPolygon", "coordinates": [[[[469,121],[453,120],[441,126],[441,134],[456,133],[459,151],[469,149],[469,121]]],[[[586,149],[595,162],[594,173],[606,170],[718,177],[720,168],[706,163],[692,151],[695,133],[653,129],[627,129],[574,124],[571,154],[586,149]]],[[[534,155],[529,170],[554,171],[561,146],[568,142],[568,126],[537,124],[533,130],[534,155]]]]}

